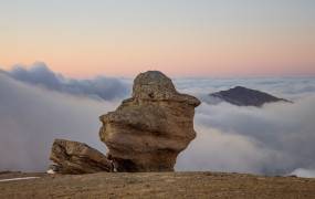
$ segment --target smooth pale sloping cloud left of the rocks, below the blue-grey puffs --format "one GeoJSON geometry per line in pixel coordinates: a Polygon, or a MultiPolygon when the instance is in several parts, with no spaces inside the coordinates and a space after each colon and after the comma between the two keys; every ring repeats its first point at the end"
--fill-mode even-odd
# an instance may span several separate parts
{"type": "Polygon", "coordinates": [[[0,170],[44,170],[54,138],[105,151],[98,116],[117,103],[30,86],[0,74],[0,170]]]}

